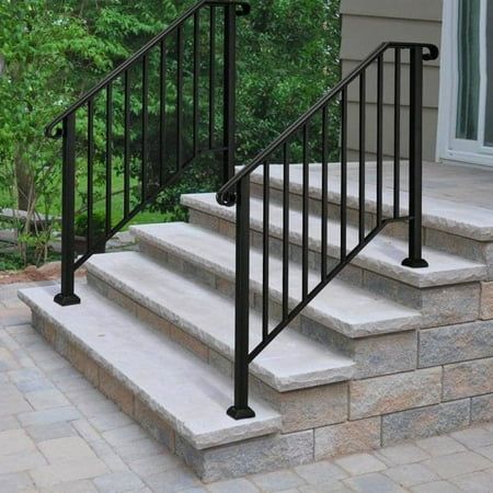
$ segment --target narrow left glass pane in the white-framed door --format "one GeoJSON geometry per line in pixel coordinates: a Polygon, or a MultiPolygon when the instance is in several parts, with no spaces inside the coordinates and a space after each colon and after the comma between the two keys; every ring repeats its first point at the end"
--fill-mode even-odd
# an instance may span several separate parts
{"type": "Polygon", "coordinates": [[[480,0],[459,0],[457,128],[459,139],[478,139],[480,95],[480,0]]]}

